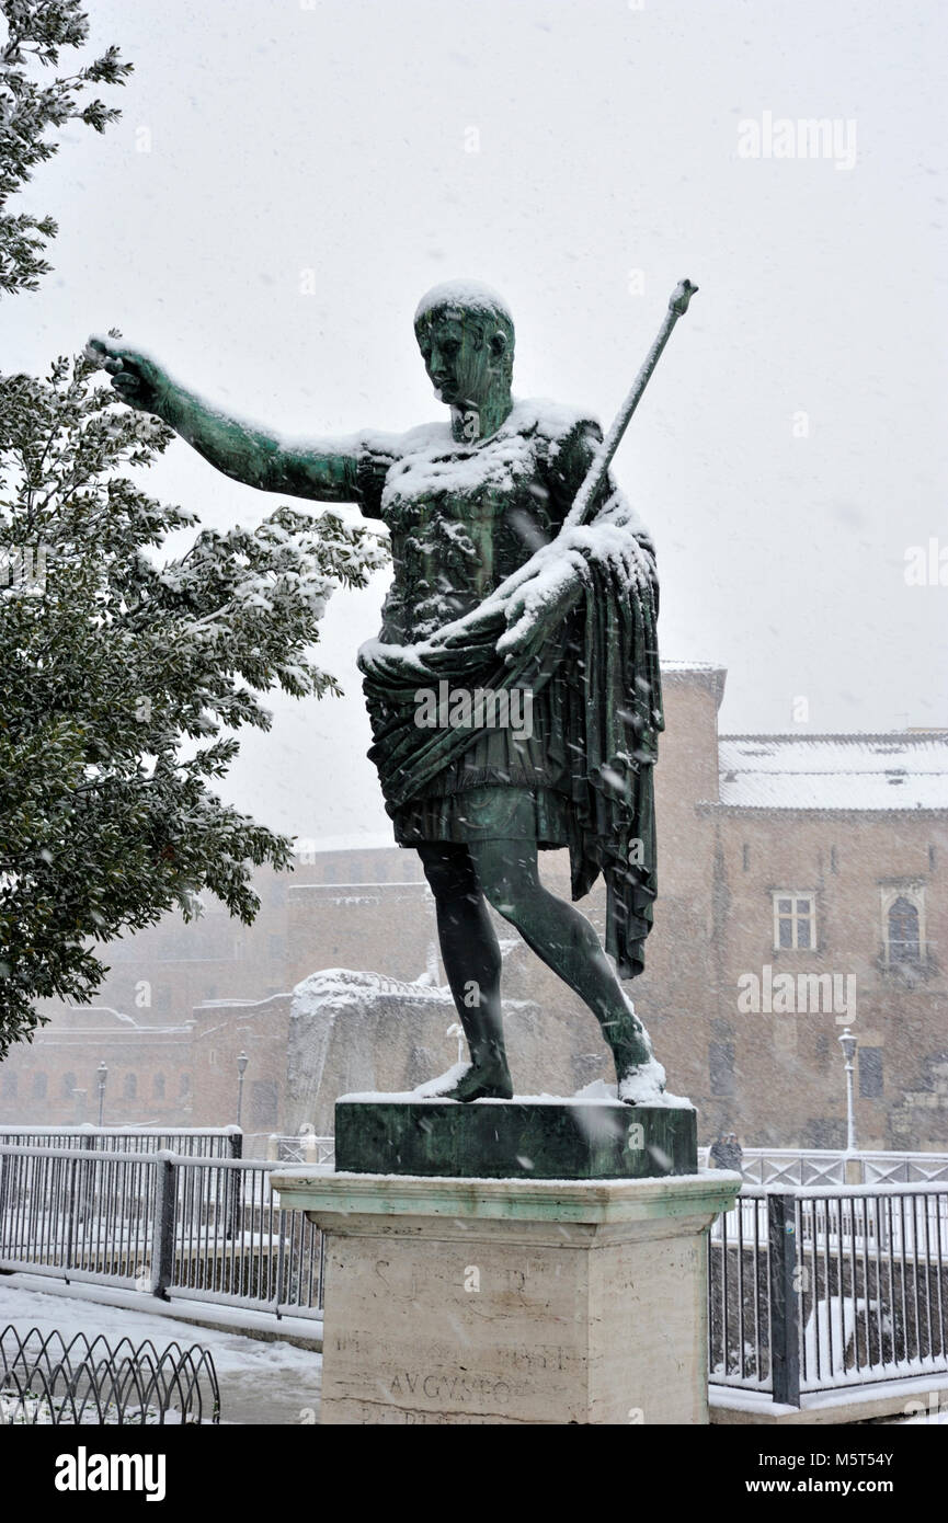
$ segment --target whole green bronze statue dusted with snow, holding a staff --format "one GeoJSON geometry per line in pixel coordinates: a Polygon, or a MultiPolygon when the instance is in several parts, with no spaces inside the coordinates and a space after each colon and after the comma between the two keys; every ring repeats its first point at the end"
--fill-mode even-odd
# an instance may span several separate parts
{"type": "Polygon", "coordinates": [[[137,350],[91,341],[122,401],[157,413],[226,475],[357,503],[389,527],[395,576],[360,667],[369,754],[395,838],[419,853],[434,894],[468,1040],[448,1098],[512,1097],[488,903],[594,1013],[620,1098],[648,1104],[665,1087],[619,981],[642,972],[655,899],[658,580],[608,465],[692,291],[674,292],[605,440],[582,411],[512,398],[514,320],[474,282],[436,286],[418,306],[450,420],[399,436],[293,445],[209,407],[137,350]],[[605,950],[540,880],[538,851],[555,847],[568,847],[573,899],[605,879],[605,950]]]}

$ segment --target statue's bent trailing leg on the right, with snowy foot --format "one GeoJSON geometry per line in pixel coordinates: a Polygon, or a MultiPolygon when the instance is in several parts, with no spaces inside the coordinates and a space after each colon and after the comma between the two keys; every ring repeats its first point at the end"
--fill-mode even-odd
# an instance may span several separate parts
{"type": "Polygon", "coordinates": [[[620,1098],[645,1098],[665,1074],[652,1057],[616,970],[590,921],[540,882],[536,845],[530,841],[471,844],[480,888],[527,946],[590,1007],[616,1062],[620,1098]],[[648,1075],[648,1084],[636,1081],[648,1075]],[[637,1092],[639,1090],[639,1092],[637,1092]]]}

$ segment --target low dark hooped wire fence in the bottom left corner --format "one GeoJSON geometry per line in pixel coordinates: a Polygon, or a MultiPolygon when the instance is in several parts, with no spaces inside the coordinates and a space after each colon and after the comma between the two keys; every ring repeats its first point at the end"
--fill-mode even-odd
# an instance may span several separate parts
{"type": "Polygon", "coordinates": [[[213,1359],[197,1343],[151,1339],[114,1348],[102,1336],[38,1328],[0,1333],[0,1427],[152,1426],[219,1422],[221,1394],[213,1359]]]}

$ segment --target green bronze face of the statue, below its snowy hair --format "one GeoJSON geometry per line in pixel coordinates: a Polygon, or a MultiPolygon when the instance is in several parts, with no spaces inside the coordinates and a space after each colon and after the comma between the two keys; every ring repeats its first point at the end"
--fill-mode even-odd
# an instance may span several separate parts
{"type": "Polygon", "coordinates": [[[434,311],[418,324],[416,338],[440,402],[480,408],[498,390],[509,390],[511,344],[489,315],[434,311]]]}

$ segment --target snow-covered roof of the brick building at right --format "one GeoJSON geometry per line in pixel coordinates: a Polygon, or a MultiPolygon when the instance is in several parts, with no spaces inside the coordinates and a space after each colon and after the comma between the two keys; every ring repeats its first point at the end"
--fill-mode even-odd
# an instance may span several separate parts
{"type": "Polygon", "coordinates": [[[948,810],[948,730],[719,736],[721,804],[948,810]]]}

